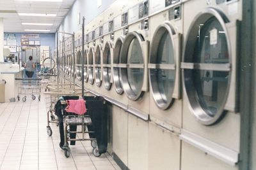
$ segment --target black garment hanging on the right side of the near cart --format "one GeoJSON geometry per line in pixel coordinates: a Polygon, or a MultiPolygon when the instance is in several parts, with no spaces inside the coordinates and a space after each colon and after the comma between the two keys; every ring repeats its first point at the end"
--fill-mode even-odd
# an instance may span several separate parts
{"type": "Polygon", "coordinates": [[[106,111],[106,101],[102,96],[84,96],[86,101],[86,115],[90,115],[92,125],[88,125],[90,138],[97,139],[99,153],[107,152],[108,148],[108,113],[106,111]]]}

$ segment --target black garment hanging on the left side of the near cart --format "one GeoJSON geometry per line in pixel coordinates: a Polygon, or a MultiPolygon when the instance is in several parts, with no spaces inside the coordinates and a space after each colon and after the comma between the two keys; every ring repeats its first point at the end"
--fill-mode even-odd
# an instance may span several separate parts
{"type": "MultiPolygon", "coordinates": [[[[63,99],[66,100],[77,100],[79,99],[79,96],[62,96],[63,99]]],[[[59,131],[60,131],[60,146],[64,145],[64,125],[63,125],[63,115],[61,110],[65,111],[65,107],[67,107],[66,104],[61,104],[61,100],[58,100],[55,104],[55,115],[58,117],[59,121],[59,131]]],[[[76,131],[77,125],[70,125],[69,130],[70,131],[76,131]]],[[[70,134],[70,139],[76,139],[76,133],[70,134]]],[[[70,141],[70,145],[76,145],[76,141],[70,141]]]]}

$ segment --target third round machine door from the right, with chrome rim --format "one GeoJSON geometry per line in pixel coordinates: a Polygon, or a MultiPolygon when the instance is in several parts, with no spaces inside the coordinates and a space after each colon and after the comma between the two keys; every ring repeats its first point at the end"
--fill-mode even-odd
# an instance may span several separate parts
{"type": "Polygon", "coordinates": [[[143,92],[144,56],[141,34],[130,32],[125,36],[121,52],[121,80],[125,94],[129,99],[138,100],[143,92]]]}

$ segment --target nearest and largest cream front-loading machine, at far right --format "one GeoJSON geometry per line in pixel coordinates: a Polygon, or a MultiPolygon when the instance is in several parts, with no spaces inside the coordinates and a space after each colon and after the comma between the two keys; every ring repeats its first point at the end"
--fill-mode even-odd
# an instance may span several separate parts
{"type": "Polygon", "coordinates": [[[237,24],[242,3],[184,2],[182,170],[238,169],[237,24]]]}

